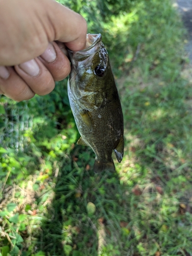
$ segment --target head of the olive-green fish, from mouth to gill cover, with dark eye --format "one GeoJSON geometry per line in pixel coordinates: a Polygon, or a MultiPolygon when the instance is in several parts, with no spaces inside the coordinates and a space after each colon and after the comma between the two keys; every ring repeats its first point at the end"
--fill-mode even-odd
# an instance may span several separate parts
{"type": "Polygon", "coordinates": [[[90,110],[97,109],[105,100],[106,84],[113,75],[101,34],[87,34],[86,45],[87,48],[81,51],[68,50],[71,60],[69,83],[78,102],[84,106],[89,104],[86,109],[90,110]]]}

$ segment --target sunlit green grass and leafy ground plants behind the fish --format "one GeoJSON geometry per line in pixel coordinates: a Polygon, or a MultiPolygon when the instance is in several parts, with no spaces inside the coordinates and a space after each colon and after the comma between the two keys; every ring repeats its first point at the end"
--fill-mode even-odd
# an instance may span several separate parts
{"type": "Polygon", "coordinates": [[[192,255],[191,77],[168,0],[60,1],[101,32],[125,119],[125,156],[96,175],[66,80],[0,98],[0,255],[192,255]]]}

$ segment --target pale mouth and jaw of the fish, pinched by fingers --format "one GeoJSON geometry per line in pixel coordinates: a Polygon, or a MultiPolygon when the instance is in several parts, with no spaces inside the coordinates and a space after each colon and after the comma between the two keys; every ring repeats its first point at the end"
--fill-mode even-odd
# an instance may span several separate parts
{"type": "Polygon", "coordinates": [[[87,37],[86,37],[87,48],[81,51],[76,51],[76,52],[67,49],[72,67],[76,70],[76,67],[78,66],[78,62],[81,62],[81,65],[85,66],[90,61],[90,58],[88,57],[94,56],[94,54],[99,50],[101,44],[102,44],[101,34],[87,34],[87,37]]]}

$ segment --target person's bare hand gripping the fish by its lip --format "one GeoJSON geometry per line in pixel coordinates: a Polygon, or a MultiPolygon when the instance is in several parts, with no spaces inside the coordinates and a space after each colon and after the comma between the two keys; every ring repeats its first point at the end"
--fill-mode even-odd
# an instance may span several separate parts
{"type": "Polygon", "coordinates": [[[21,101],[50,93],[70,73],[65,46],[85,48],[84,18],[54,0],[0,6],[0,94],[21,101]]]}

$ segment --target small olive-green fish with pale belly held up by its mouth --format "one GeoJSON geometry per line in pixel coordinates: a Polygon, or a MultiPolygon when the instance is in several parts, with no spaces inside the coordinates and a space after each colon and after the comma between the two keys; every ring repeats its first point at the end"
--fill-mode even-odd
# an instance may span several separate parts
{"type": "Polygon", "coordinates": [[[77,144],[92,148],[95,173],[115,171],[112,152],[120,163],[124,155],[124,120],[102,35],[87,34],[86,49],[67,51],[71,62],[67,92],[81,135],[77,144]]]}

